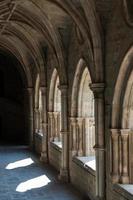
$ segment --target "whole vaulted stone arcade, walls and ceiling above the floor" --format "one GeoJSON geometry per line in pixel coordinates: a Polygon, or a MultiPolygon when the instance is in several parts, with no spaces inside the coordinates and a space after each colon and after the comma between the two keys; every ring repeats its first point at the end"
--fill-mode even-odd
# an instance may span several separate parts
{"type": "Polygon", "coordinates": [[[133,199],[131,0],[0,1],[0,145],[90,200],[133,199]]]}

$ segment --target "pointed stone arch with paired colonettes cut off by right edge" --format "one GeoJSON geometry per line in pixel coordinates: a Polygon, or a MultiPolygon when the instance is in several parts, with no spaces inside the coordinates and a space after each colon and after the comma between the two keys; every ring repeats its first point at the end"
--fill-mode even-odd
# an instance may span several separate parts
{"type": "Polygon", "coordinates": [[[112,102],[111,157],[113,182],[132,183],[132,71],[133,46],[126,53],[116,81],[112,102]],[[119,147],[119,148],[118,148],[119,147]]]}

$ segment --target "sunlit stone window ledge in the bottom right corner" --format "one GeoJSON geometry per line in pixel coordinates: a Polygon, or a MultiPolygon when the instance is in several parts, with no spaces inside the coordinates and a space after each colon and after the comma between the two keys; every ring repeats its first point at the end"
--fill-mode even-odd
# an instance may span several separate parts
{"type": "Polygon", "coordinates": [[[133,184],[114,184],[113,190],[126,199],[133,199],[133,184]]]}

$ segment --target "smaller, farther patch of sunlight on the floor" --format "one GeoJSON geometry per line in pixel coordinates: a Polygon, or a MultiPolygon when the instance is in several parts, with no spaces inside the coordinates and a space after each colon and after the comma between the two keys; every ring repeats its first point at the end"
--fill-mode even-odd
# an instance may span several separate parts
{"type": "Polygon", "coordinates": [[[19,167],[26,167],[28,165],[31,165],[32,163],[34,163],[34,162],[31,158],[26,158],[24,160],[19,160],[14,163],[8,164],[6,166],[6,169],[15,169],[15,168],[19,168],[19,167]]]}

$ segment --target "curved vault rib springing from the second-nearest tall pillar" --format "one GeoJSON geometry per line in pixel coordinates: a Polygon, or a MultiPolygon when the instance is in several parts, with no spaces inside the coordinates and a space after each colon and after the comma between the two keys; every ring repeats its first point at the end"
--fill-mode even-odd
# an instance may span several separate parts
{"type": "Polygon", "coordinates": [[[27,12],[27,8],[24,7],[23,4],[20,4],[18,6],[19,9],[17,9],[15,13],[18,14],[19,16],[21,15],[22,19],[23,16],[25,16],[25,18],[28,19],[28,23],[30,23],[33,27],[35,27],[36,25],[36,29],[38,29],[39,32],[44,36],[47,31],[47,35],[49,36],[48,41],[51,42],[53,52],[55,53],[56,58],[58,60],[58,73],[60,76],[60,82],[62,84],[66,84],[67,77],[66,77],[66,67],[64,61],[64,49],[60,35],[58,31],[56,31],[54,25],[50,23],[46,14],[41,10],[41,8],[38,7],[38,5],[35,2],[32,3],[36,7],[37,11],[36,13],[33,14],[31,10],[28,10],[27,12]],[[28,15],[26,13],[28,13],[28,15]]]}

